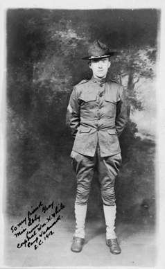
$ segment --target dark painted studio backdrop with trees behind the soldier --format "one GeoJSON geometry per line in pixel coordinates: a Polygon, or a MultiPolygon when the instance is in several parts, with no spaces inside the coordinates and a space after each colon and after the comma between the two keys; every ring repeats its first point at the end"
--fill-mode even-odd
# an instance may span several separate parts
{"type": "MultiPolygon", "coordinates": [[[[6,214],[24,216],[40,201],[49,205],[54,200],[66,205],[65,220],[73,218],[73,139],[65,115],[73,85],[92,76],[80,58],[98,39],[119,51],[108,76],[124,86],[128,105],[115,186],[117,220],[153,225],[159,12],[10,9],[6,27],[6,214]]],[[[88,217],[101,214],[101,207],[94,175],[88,217]]]]}

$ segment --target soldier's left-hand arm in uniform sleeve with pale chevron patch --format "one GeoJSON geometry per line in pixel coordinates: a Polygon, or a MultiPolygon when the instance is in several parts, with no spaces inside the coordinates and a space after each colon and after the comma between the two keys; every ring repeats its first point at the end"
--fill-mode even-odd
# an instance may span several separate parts
{"type": "Polygon", "coordinates": [[[78,126],[80,125],[80,106],[76,87],[73,88],[69,105],[67,107],[66,124],[70,128],[73,138],[75,138],[78,131],[78,126]]]}

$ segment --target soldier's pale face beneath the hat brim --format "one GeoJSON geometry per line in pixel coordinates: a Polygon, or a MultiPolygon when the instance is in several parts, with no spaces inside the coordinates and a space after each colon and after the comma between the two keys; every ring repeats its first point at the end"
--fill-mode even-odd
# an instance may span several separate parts
{"type": "Polygon", "coordinates": [[[105,78],[110,64],[109,58],[94,59],[89,62],[89,68],[92,69],[94,78],[105,78]]]}

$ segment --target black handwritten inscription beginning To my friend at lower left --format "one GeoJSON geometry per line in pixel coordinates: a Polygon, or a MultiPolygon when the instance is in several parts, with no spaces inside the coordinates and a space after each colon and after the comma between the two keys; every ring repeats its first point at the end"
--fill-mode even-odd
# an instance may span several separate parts
{"type": "Polygon", "coordinates": [[[31,248],[33,246],[37,250],[44,241],[54,234],[53,226],[62,219],[59,212],[64,207],[62,202],[55,207],[54,202],[48,206],[40,202],[37,207],[28,211],[27,216],[20,223],[11,227],[11,232],[15,238],[21,238],[21,241],[17,243],[17,248],[31,248]],[[45,216],[46,213],[49,213],[49,216],[45,216]],[[22,236],[24,236],[23,240],[22,236]]]}

